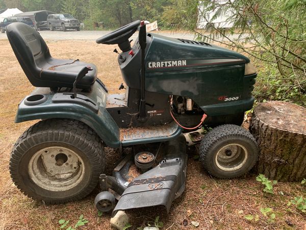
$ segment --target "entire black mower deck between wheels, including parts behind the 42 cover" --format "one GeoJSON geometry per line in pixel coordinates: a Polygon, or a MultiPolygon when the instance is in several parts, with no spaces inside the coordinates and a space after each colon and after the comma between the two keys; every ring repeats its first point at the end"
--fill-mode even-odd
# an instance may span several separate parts
{"type": "MultiPolygon", "coordinates": [[[[147,168],[148,171],[144,171],[134,178],[130,176],[130,167],[134,164],[134,154],[126,155],[121,160],[114,169],[113,176],[100,175],[101,191],[112,189],[116,192],[118,203],[112,212],[113,216],[119,210],[159,205],[165,206],[169,212],[172,201],[179,197],[185,189],[188,158],[185,136],[180,134],[175,139],[165,142],[163,149],[164,151],[161,153],[159,150],[154,152],[154,159],[158,154],[162,154],[162,160],[156,162],[158,165],[147,168]]],[[[99,198],[100,195],[97,197],[99,198]]]]}

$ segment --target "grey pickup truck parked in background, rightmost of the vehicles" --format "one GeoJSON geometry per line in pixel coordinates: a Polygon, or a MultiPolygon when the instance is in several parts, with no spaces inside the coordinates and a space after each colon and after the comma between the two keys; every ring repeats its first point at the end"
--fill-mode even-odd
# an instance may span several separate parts
{"type": "Polygon", "coordinates": [[[47,22],[50,31],[55,29],[61,29],[62,31],[74,29],[80,31],[80,21],[71,14],[49,14],[47,22]]]}

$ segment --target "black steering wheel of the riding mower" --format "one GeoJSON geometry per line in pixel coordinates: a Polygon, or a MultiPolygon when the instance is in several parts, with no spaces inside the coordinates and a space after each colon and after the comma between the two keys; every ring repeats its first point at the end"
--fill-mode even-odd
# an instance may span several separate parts
{"type": "Polygon", "coordinates": [[[98,44],[118,44],[122,52],[130,51],[131,44],[129,38],[136,32],[140,25],[140,20],[133,21],[107,35],[96,40],[98,44]]]}

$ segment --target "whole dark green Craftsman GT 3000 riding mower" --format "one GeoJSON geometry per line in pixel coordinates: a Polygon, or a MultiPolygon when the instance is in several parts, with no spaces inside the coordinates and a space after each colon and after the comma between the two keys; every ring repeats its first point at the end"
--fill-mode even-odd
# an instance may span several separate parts
{"type": "Polygon", "coordinates": [[[30,26],[13,23],[7,36],[37,87],[20,102],[15,122],[41,121],[19,137],[10,159],[12,179],[29,197],[65,203],[99,182],[100,211],[157,205],[169,211],[185,189],[185,135],[205,126],[199,155],[212,176],[238,177],[256,163],[256,140],[240,126],[257,76],[247,57],[147,33],[137,20],[96,40],[121,50],[115,52],[125,94],[110,95],[94,64],[53,58],[30,26]],[[122,153],[112,175],[104,174],[104,147],[122,153]]]}

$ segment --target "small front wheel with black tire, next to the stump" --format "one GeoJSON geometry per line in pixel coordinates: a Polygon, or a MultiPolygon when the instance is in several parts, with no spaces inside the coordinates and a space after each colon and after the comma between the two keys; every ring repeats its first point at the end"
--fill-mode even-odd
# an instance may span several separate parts
{"type": "Polygon", "coordinates": [[[258,160],[254,137],[237,125],[221,125],[208,132],[200,145],[204,168],[217,178],[235,178],[247,173],[258,160]]]}

